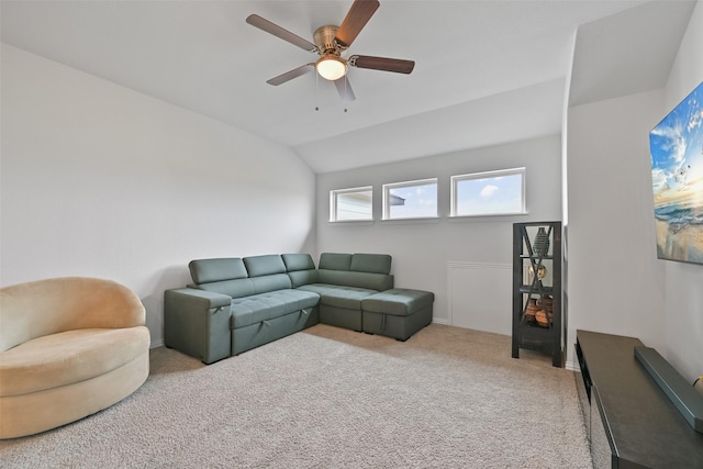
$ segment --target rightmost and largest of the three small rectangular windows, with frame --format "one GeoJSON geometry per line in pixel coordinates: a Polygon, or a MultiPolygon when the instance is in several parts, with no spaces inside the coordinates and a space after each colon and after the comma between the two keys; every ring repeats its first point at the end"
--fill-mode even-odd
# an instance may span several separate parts
{"type": "Polygon", "coordinates": [[[451,216],[525,213],[525,168],[451,177],[451,216]]]}

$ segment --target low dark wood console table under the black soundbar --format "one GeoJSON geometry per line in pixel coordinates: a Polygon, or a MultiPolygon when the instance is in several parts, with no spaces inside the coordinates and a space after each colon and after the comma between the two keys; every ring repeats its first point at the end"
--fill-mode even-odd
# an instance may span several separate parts
{"type": "Polygon", "coordinates": [[[577,331],[577,388],[593,467],[703,468],[703,434],[635,358],[634,337],[577,331]]]}

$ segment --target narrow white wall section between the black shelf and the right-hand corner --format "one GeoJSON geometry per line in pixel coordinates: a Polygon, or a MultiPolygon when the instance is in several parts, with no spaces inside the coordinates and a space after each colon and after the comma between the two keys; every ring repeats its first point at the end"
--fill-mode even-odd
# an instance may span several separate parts
{"type": "Polygon", "coordinates": [[[663,348],[648,137],[662,102],[659,90],[569,110],[570,362],[578,328],[663,348]]]}

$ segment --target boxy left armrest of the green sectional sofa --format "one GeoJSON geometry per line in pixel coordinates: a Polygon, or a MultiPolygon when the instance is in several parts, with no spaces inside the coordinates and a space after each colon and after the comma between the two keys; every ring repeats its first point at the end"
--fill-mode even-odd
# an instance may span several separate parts
{"type": "Polygon", "coordinates": [[[179,288],[164,292],[164,343],[212,364],[231,355],[232,298],[179,288]]]}

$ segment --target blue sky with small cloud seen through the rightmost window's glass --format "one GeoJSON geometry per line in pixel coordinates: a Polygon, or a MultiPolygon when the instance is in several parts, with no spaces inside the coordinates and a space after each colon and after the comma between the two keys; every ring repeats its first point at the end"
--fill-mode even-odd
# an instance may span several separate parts
{"type": "Polygon", "coordinates": [[[458,180],[455,215],[523,212],[523,175],[458,180]]]}

